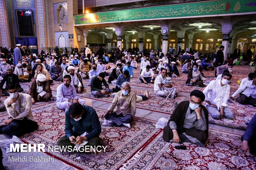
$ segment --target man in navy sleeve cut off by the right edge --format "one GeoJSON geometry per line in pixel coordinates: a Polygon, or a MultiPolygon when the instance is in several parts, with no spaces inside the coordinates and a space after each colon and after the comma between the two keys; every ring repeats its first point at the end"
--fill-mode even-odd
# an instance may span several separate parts
{"type": "Polygon", "coordinates": [[[249,151],[250,154],[256,155],[256,114],[251,119],[251,122],[247,126],[247,130],[241,137],[242,150],[244,155],[249,151]]]}

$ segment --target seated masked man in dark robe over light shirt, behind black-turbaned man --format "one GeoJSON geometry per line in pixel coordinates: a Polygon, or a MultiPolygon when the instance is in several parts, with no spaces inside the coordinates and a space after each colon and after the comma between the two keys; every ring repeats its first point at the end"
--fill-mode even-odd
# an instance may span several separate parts
{"type": "Polygon", "coordinates": [[[199,86],[199,87],[203,87],[204,82],[206,80],[206,78],[204,78],[204,76],[202,75],[202,73],[197,70],[198,65],[197,63],[194,63],[192,65],[193,70],[190,71],[187,75],[187,86],[199,86]]]}

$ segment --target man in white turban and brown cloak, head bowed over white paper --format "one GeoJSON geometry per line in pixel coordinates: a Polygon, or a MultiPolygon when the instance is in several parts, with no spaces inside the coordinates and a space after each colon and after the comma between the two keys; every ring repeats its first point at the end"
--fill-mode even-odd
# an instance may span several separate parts
{"type": "Polygon", "coordinates": [[[36,79],[33,80],[29,87],[28,94],[31,95],[32,104],[35,104],[35,101],[47,102],[51,100],[52,90],[45,75],[39,74],[36,79]]]}

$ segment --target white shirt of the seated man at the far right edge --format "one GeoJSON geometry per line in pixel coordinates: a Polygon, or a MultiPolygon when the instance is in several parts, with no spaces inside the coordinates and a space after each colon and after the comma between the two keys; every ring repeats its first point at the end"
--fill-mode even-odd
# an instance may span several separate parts
{"type": "Polygon", "coordinates": [[[236,95],[244,91],[242,94],[246,95],[249,97],[251,95],[252,98],[256,98],[256,86],[252,84],[253,80],[248,81],[244,83],[242,86],[240,85],[237,91],[232,95],[234,98],[236,95]]]}

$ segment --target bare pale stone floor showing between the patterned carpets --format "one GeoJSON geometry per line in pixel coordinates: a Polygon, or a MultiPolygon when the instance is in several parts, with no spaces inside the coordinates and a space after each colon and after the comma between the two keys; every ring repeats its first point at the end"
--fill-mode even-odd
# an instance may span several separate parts
{"type": "MultiPolygon", "coordinates": [[[[255,68],[252,67],[252,70],[254,70],[255,68]]],[[[22,85],[22,88],[24,88],[24,91],[28,90],[28,86],[26,85],[22,85]]],[[[52,91],[53,95],[56,95],[55,91],[52,91]]],[[[188,93],[182,93],[180,95],[189,95],[188,93]]],[[[110,105],[109,102],[104,102],[104,101],[99,101],[99,100],[93,100],[93,99],[86,99],[86,104],[93,106],[93,107],[98,107],[100,109],[107,109],[110,105]]],[[[144,109],[137,109],[136,110],[136,116],[140,117],[140,118],[145,118],[145,119],[150,119],[150,120],[154,120],[154,121],[158,121],[159,118],[164,117],[166,119],[169,119],[170,115],[169,114],[164,114],[164,113],[159,113],[159,112],[154,112],[154,111],[148,111],[148,110],[144,110],[144,109]]],[[[224,127],[224,126],[218,126],[218,125],[214,125],[214,124],[210,124],[209,128],[211,129],[216,129],[216,130],[222,130],[222,131],[226,131],[226,132],[231,132],[231,133],[235,133],[238,135],[242,135],[244,133],[244,130],[238,130],[238,129],[234,129],[234,128],[228,128],[228,127],[224,127]]],[[[5,140],[8,137],[5,135],[0,135],[0,140],[5,140]]],[[[57,169],[57,170],[72,170],[75,169],[70,165],[67,165],[57,159],[55,159],[55,161],[49,163],[49,162],[11,162],[9,161],[9,156],[29,156],[30,153],[21,153],[21,152],[17,152],[17,153],[8,153],[6,154],[6,151],[3,147],[2,151],[3,151],[3,164],[5,166],[5,168],[7,170],[13,170],[13,169],[17,169],[19,168],[19,170],[31,170],[31,169],[35,169],[35,170],[50,170],[50,169],[57,169]]],[[[42,152],[37,152],[35,154],[33,154],[34,156],[46,156],[46,154],[42,153],[42,152]]]]}

